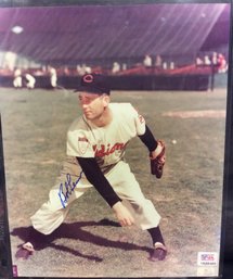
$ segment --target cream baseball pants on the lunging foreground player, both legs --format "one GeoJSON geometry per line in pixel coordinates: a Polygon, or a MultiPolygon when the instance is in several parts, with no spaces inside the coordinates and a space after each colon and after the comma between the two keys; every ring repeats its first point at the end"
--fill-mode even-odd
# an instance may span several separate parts
{"type": "MultiPolygon", "coordinates": [[[[142,230],[157,227],[160,216],[153,203],[145,199],[141,188],[126,162],[118,162],[106,179],[134,217],[142,230]]],[[[49,200],[30,217],[36,230],[43,234],[54,231],[67,216],[70,205],[90,187],[75,157],[67,157],[61,176],[49,192],[49,200]]]]}

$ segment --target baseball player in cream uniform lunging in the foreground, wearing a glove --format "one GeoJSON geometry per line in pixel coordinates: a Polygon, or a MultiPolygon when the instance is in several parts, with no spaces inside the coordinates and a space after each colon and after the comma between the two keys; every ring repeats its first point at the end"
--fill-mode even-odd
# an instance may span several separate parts
{"type": "MultiPolygon", "coordinates": [[[[83,115],[68,129],[67,160],[57,183],[50,190],[49,201],[30,218],[34,229],[42,234],[53,232],[64,221],[72,203],[94,187],[121,226],[134,224],[148,231],[154,248],[150,259],[165,259],[167,248],[158,226],[160,216],[124,160],[128,142],[139,136],[150,151],[152,166],[158,164],[160,177],[165,163],[163,142],[153,137],[143,116],[130,103],[111,103],[104,76],[83,75],[76,91],[83,115]]],[[[36,246],[28,241],[23,249],[33,252],[36,246]]]]}

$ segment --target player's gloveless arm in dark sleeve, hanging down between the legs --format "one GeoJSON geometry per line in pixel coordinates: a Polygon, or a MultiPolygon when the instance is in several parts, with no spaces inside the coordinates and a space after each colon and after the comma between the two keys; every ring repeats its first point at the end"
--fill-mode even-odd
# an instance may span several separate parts
{"type": "Polygon", "coordinates": [[[116,214],[121,226],[131,226],[134,219],[127,207],[121,203],[121,199],[116,194],[106,177],[100,169],[94,157],[77,157],[88,181],[94,186],[98,192],[108,203],[116,214]]]}

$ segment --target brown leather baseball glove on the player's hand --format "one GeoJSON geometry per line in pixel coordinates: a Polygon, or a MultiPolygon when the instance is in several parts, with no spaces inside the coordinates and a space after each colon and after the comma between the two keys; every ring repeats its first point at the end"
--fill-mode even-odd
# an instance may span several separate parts
{"type": "Polygon", "coordinates": [[[152,175],[155,175],[157,178],[161,178],[165,165],[165,143],[164,141],[159,140],[158,144],[161,145],[161,152],[157,155],[157,157],[152,158],[152,155],[150,153],[151,173],[152,175]]]}

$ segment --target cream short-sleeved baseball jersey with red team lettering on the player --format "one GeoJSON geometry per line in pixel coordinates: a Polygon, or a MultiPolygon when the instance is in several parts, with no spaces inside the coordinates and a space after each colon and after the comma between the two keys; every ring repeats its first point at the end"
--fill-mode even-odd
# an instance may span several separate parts
{"type": "Polygon", "coordinates": [[[109,103],[111,124],[98,127],[85,115],[67,132],[67,155],[95,157],[101,169],[122,160],[127,143],[145,132],[145,121],[130,103],[109,103]]]}

